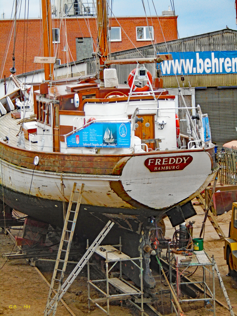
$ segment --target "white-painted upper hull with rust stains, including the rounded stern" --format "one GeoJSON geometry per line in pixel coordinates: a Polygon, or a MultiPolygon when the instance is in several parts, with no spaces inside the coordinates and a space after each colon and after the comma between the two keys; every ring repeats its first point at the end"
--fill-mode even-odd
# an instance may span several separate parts
{"type": "MultiPolygon", "coordinates": [[[[183,156],[177,153],[175,156],[183,156]]],[[[188,155],[192,162],[183,170],[150,172],[144,165],[145,159],[154,155],[133,156],[125,163],[121,176],[85,175],[63,173],[65,200],[69,201],[73,183],[85,184],[82,203],[112,208],[133,208],[121,198],[126,193],[134,202],[156,210],[170,208],[187,200],[197,191],[202,191],[213,177],[211,157],[205,151],[193,151],[188,155]],[[200,169],[200,162],[204,166],[200,169]],[[122,191],[115,192],[116,182],[122,184],[122,191]]],[[[174,154],[155,155],[173,157],[174,154]]],[[[61,173],[43,172],[16,167],[2,161],[1,179],[3,186],[30,196],[54,201],[63,201],[61,173]]],[[[55,206],[57,207],[57,206],[55,206]]]]}

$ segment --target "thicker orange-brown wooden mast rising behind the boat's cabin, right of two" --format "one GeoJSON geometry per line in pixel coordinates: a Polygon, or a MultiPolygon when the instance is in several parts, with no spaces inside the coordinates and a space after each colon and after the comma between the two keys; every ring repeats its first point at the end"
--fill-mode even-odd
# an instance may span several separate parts
{"type": "Polygon", "coordinates": [[[100,85],[104,85],[104,68],[108,56],[107,39],[107,3],[106,0],[97,0],[97,20],[98,20],[98,50],[100,57],[100,85]]]}

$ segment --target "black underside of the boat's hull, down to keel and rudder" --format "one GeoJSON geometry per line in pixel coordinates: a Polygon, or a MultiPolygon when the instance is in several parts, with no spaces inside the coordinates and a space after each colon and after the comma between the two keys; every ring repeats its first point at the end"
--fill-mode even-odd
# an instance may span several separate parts
{"type": "MultiPolygon", "coordinates": [[[[10,190],[0,186],[0,197],[4,194],[4,203],[40,222],[46,222],[52,226],[63,227],[63,203],[54,200],[32,197],[27,194],[10,190]],[[3,192],[2,192],[3,190],[3,192]]],[[[67,207],[67,205],[66,205],[67,207]]],[[[180,220],[180,207],[173,208],[180,220]]],[[[167,211],[167,210],[166,210],[167,211]]],[[[169,215],[172,210],[169,210],[169,215]]],[[[181,211],[182,213],[182,211],[181,211]]],[[[192,216],[193,214],[191,214],[192,216]]],[[[156,221],[165,217],[165,210],[144,209],[117,209],[108,207],[96,207],[81,204],[76,222],[75,235],[80,242],[89,240],[91,244],[108,220],[115,225],[103,240],[104,245],[115,245],[122,238],[122,251],[130,257],[139,257],[139,249],[143,252],[143,279],[147,290],[155,287],[155,280],[149,268],[150,255],[143,251],[145,245],[151,245],[149,232],[155,230],[155,223],[151,223],[151,217],[156,221]]],[[[170,217],[170,216],[169,216],[170,217]]],[[[190,217],[190,216],[188,216],[190,217]]],[[[188,218],[187,217],[187,218],[188,218]]],[[[181,216],[181,222],[184,218],[181,216]]],[[[164,232],[163,232],[164,233],[164,232]]],[[[140,284],[139,270],[136,266],[132,268],[123,265],[123,271],[137,285],[140,284]]]]}

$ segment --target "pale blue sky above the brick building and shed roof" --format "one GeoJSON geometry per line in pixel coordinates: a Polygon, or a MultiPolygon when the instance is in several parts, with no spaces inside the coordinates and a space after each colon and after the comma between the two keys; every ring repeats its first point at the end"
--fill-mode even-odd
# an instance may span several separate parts
{"type": "MultiPolygon", "coordinates": [[[[21,1],[21,6],[25,7],[25,0],[21,1]]],[[[145,15],[142,0],[109,0],[110,3],[111,1],[115,16],[145,15]]],[[[13,6],[15,10],[13,2],[14,0],[0,0],[0,18],[3,12],[6,19],[11,17],[13,6]]],[[[88,0],[88,3],[91,2],[93,1],[88,0]]],[[[219,31],[226,26],[236,30],[234,2],[234,0],[153,0],[157,15],[162,15],[162,11],[168,10],[168,6],[172,10],[174,5],[175,14],[178,15],[179,38],[219,31]]],[[[144,0],[144,3],[146,14],[150,15],[151,12],[152,15],[156,15],[152,0],[144,0]]],[[[39,16],[39,0],[29,0],[29,17],[39,16]]]]}

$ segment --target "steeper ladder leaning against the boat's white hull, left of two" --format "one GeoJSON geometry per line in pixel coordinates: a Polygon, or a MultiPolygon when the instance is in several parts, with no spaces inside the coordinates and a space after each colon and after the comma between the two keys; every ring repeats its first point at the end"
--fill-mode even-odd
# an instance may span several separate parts
{"type": "Polygon", "coordinates": [[[60,241],[59,248],[58,248],[58,255],[57,255],[57,259],[56,259],[56,263],[55,263],[55,267],[54,267],[54,271],[53,271],[53,276],[52,276],[52,281],[51,281],[50,290],[49,290],[49,294],[48,294],[46,309],[44,312],[45,316],[48,315],[48,313],[52,312],[52,311],[53,311],[53,315],[55,315],[55,313],[56,313],[56,308],[57,308],[58,301],[59,301],[58,296],[59,296],[59,293],[61,291],[61,287],[63,284],[64,274],[65,274],[65,270],[66,270],[66,266],[67,266],[67,262],[68,262],[68,256],[69,256],[69,252],[70,252],[70,247],[71,247],[71,243],[72,243],[72,238],[73,238],[73,234],[74,234],[74,230],[75,230],[75,226],[76,226],[76,220],[77,220],[77,216],[78,216],[79,208],[80,208],[80,204],[81,204],[83,188],[84,188],[84,183],[82,183],[81,190],[80,190],[80,193],[78,196],[78,200],[74,201],[73,199],[74,199],[75,192],[78,192],[78,190],[76,190],[76,182],[73,185],[66,218],[64,221],[64,228],[63,228],[63,232],[62,232],[62,237],[61,237],[61,241],[60,241]],[[71,210],[73,203],[76,203],[76,210],[75,211],[71,210]],[[73,217],[73,218],[71,218],[71,217],[73,217]],[[63,264],[63,267],[61,269],[59,269],[60,263],[63,264]],[[51,296],[52,296],[53,290],[55,290],[57,292],[57,294],[52,299],[51,296]],[[53,308],[52,308],[52,300],[54,301],[53,308]]]}

